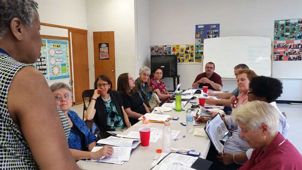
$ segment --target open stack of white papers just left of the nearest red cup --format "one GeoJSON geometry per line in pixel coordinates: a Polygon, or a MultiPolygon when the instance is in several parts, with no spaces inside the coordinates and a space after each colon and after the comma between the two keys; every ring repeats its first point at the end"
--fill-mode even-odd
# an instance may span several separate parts
{"type": "Polygon", "coordinates": [[[113,145],[113,146],[130,147],[134,149],[140,144],[140,139],[128,139],[128,138],[109,136],[106,139],[99,140],[97,143],[101,143],[105,145],[113,145]]]}

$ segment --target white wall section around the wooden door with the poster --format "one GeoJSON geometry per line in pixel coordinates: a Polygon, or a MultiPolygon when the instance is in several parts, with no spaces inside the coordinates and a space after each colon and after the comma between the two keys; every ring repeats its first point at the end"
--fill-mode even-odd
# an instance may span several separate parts
{"type": "Polygon", "coordinates": [[[90,87],[95,80],[93,32],[114,31],[115,76],[135,75],[134,0],[86,1],[90,87]]]}

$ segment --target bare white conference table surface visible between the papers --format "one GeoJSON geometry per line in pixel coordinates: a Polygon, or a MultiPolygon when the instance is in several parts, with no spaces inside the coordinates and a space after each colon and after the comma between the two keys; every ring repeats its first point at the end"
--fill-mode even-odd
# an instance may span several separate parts
{"type": "MultiPolygon", "coordinates": [[[[196,102],[198,104],[198,99],[193,99],[191,102],[196,102]]],[[[188,102],[184,110],[191,108],[191,104],[188,102]]],[[[196,109],[194,114],[196,113],[196,109]]],[[[186,126],[182,126],[180,123],[185,122],[186,111],[176,112],[175,110],[171,110],[168,112],[164,112],[164,114],[170,115],[172,117],[179,117],[178,120],[170,120],[170,126],[172,130],[181,131],[177,137],[186,136],[185,138],[174,141],[171,139],[171,147],[178,149],[194,149],[195,152],[201,152],[200,157],[206,158],[207,152],[210,148],[210,139],[207,135],[203,136],[193,136],[193,132],[187,132],[186,126]]],[[[194,115],[195,116],[195,115],[194,115]]],[[[163,123],[153,123],[149,122],[148,124],[143,124],[143,121],[140,121],[133,125],[131,128],[125,130],[122,135],[127,135],[129,132],[139,132],[141,127],[153,127],[153,128],[163,128],[163,123]]],[[[204,128],[204,125],[194,126],[194,128],[204,128]]],[[[94,169],[151,169],[153,166],[151,165],[154,161],[153,158],[159,153],[156,152],[156,149],[162,149],[162,139],[158,139],[156,143],[150,142],[149,146],[137,146],[137,148],[131,153],[129,161],[125,161],[123,165],[115,165],[110,163],[103,162],[86,162],[85,160],[80,160],[77,162],[77,165],[81,169],[94,170],[94,169]]],[[[175,152],[172,150],[172,152],[175,152]]]]}

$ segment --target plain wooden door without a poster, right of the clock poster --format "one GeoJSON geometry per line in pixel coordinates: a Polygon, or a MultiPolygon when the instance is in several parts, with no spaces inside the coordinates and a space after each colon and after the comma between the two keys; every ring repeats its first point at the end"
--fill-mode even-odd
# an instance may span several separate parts
{"type": "Polygon", "coordinates": [[[75,104],[83,103],[82,93],[89,89],[87,34],[72,32],[73,88],[75,104]]]}

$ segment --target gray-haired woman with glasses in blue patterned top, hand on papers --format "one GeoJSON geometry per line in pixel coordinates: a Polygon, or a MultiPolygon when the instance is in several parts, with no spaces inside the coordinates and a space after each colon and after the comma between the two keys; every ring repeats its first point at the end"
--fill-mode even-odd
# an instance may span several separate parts
{"type": "Polygon", "coordinates": [[[50,86],[50,90],[53,92],[57,106],[69,120],[71,129],[68,137],[68,145],[75,160],[99,159],[102,156],[106,158],[111,156],[113,154],[112,146],[104,146],[97,152],[88,152],[96,146],[98,139],[90,132],[78,114],[69,110],[72,104],[72,91],[70,87],[63,82],[57,82],[50,86]]]}

